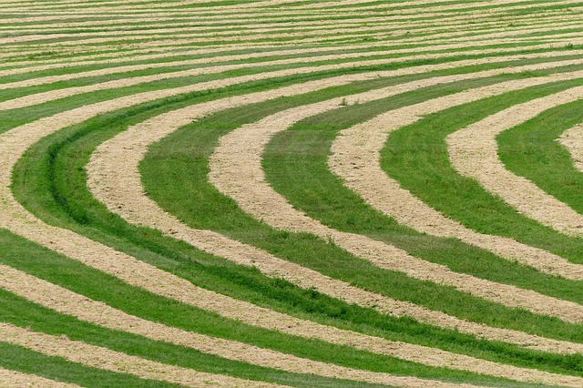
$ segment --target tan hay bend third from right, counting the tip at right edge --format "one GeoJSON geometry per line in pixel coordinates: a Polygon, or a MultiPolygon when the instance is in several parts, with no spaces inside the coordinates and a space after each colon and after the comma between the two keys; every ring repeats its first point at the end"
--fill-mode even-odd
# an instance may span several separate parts
{"type": "MultiPolygon", "coordinates": [[[[552,79],[551,79],[552,80],[552,79]]],[[[535,86],[547,83],[549,80],[538,78],[527,81],[512,81],[506,83],[507,89],[496,90],[496,94],[515,90],[517,87],[535,86]]],[[[485,87],[482,90],[492,89],[485,87]]],[[[401,188],[399,183],[389,178],[381,168],[380,151],[389,133],[411,125],[423,116],[455,107],[481,96],[481,91],[473,90],[461,95],[441,97],[424,103],[403,107],[384,113],[372,120],[344,129],[339,133],[332,145],[332,156],[329,158],[331,170],[343,179],[344,184],[357,192],[366,203],[384,214],[394,217],[415,230],[442,237],[455,237],[468,244],[485,250],[490,250],[506,260],[517,260],[536,268],[538,271],[564,277],[566,279],[583,280],[583,266],[570,263],[546,250],[529,247],[516,240],[486,235],[465,226],[455,220],[445,218],[437,210],[427,206],[414,197],[411,192],[401,188]],[[464,96],[476,94],[467,100],[464,96]],[[460,98],[461,97],[461,98],[460,98]]],[[[482,141],[476,139],[476,141],[482,141]]],[[[462,144],[465,139],[458,138],[462,144]]],[[[461,157],[461,155],[460,155],[461,157]]],[[[473,168],[480,169],[482,161],[477,160],[473,168]]]]}

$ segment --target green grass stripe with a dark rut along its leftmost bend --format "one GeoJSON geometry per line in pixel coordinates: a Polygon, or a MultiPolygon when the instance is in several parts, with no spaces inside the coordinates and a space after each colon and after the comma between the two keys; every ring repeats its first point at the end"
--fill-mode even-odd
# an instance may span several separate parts
{"type": "MultiPolygon", "coordinates": [[[[190,101],[190,103],[192,102],[194,101],[190,101]]],[[[348,306],[339,301],[332,303],[331,299],[322,295],[314,299],[314,296],[318,295],[317,293],[302,291],[289,285],[286,286],[286,291],[281,291],[279,290],[281,284],[287,284],[286,282],[270,280],[261,276],[257,271],[210,257],[179,241],[162,238],[157,232],[128,225],[123,220],[119,220],[117,216],[108,213],[102,205],[91,197],[86,188],[83,166],[87,163],[89,155],[98,144],[106,138],[111,138],[128,125],[143,121],[146,117],[159,114],[170,108],[177,107],[156,109],[144,106],[141,108],[141,114],[140,111],[112,114],[92,120],[87,126],[80,127],[81,130],[79,130],[80,128],[69,128],[46,138],[35,148],[32,148],[16,167],[15,195],[17,199],[22,201],[27,209],[31,209],[44,220],[91,236],[92,239],[100,240],[118,250],[127,251],[141,260],[146,260],[166,271],[172,271],[202,287],[220,291],[238,299],[253,301],[277,311],[285,311],[302,318],[373,335],[376,331],[388,330],[393,336],[391,338],[394,339],[420,344],[430,343],[433,346],[445,347],[446,350],[455,352],[475,354],[470,350],[474,346],[480,349],[480,352],[484,351],[485,353],[489,352],[487,349],[490,349],[490,346],[496,346],[496,349],[498,346],[500,346],[499,349],[512,349],[513,353],[525,352],[513,346],[479,342],[472,340],[470,336],[454,335],[448,331],[438,334],[442,331],[426,325],[413,324],[411,320],[407,319],[396,320],[383,317],[374,311],[348,306]],[[189,270],[193,261],[199,264],[197,271],[189,270]],[[322,302],[320,302],[320,298],[322,298],[322,302]],[[318,301],[318,303],[313,300],[318,301]],[[334,307],[326,307],[327,305],[334,307]],[[394,324],[397,324],[398,329],[387,329],[393,327],[394,324]],[[423,329],[415,329],[412,332],[406,329],[407,327],[423,329]],[[414,334],[417,330],[420,332],[419,335],[414,334]],[[403,336],[404,332],[407,333],[405,336],[403,336]],[[428,332],[435,332],[435,334],[429,335],[428,332]],[[451,343],[453,342],[452,337],[458,339],[456,341],[459,342],[459,345],[451,343]],[[463,345],[465,342],[470,343],[470,345],[465,347],[463,345]]],[[[274,243],[287,239],[292,240],[292,238],[304,243],[307,241],[305,246],[310,250],[308,253],[313,255],[314,252],[318,252],[318,257],[322,257],[322,260],[338,260],[336,258],[353,260],[342,250],[327,246],[322,241],[310,237],[288,237],[286,233],[276,231],[271,231],[269,235],[264,237],[274,243]]],[[[294,246],[287,243],[286,246],[292,246],[294,250],[298,249],[298,244],[294,246]]],[[[295,255],[295,253],[293,254],[295,255]]],[[[367,263],[362,263],[362,265],[371,267],[367,263]]],[[[409,283],[409,289],[420,294],[426,291],[427,295],[435,295],[436,298],[440,296],[439,293],[431,293],[435,290],[429,291],[424,288],[422,282],[409,283]],[[422,287],[415,290],[416,286],[422,287]]],[[[476,301],[479,302],[479,300],[476,301]]],[[[555,334],[557,320],[551,321],[553,329],[548,332],[557,335],[555,334]]],[[[560,326],[561,323],[558,325],[560,326]]],[[[562,334],[567,335],[567,338],[573,341],[583,341],[583,339],[578,339],[578,333],[581,331],[577,327],[570,325],[563,327],[565,330],[558,331],[559,337],[562,334]]],[[[510,351],[496,350],[495,353],[497,352],[510,351]]],[[[478,354],[481,353],[478,352],[478,354]]],[[[530,352],[525,352],[525,354],[530,354],[530,352]]],[[[496,354],[490,356],[494,356],[495,360],[498,357],[496,354]]],[[[511,361],[513,358],[514,356],[508,357],[506,360],[513,362],[511,361]]]]}

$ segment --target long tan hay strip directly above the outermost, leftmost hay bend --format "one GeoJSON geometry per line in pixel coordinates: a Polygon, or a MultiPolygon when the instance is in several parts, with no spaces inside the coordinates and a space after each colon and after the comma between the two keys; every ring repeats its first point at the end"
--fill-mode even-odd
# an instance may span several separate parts
{"type": "MultiPolygon", "coordinates": [[[[414,50],[413,50],[414,51],[414,50]]],[[[490,50],[484,50],[486,52],[490,50]]],[[[496,52],[496,50],[494,51],[496,52]]],[[[558,52],[560,53],[560,52],[558,52]]],[[[576,53],[583,53],[583,51],[577,50],[576,53]]],[[[489,63],[489,62],[506,62],[506,61],[514,61],[518,59],[528,59],[528,58],[547,58],[553,57],[557,54],[557,52],[547,52],[547,53],[537,53],[537,54],[529,54],[529,55],[515,55],[515,56],[501,56],[501,57],[489,57],[483,59],[462,59],[458,61],[452,61],[448,64],[454,64],[456,66],[462,66],[463,64],[476,64],[476,63],[489,63]]],[[[419,56],[407,56],[403,58],[388,58],[388,59],[372,59],[372,60],[363,60],[357,62],[344,62],[342,64],[335,64],[335,65],[322,65],[322,66],[308,66],[308,67],[297,67],[293,70],[283,70],[284,74],[307,74],[307,73],[314,73],[318,71],[328,71],[328,70],[340,70],[346,68],[353,68],[357,66],[375,66],[375,65],[388,65],[400,62],[406,62],[413,59],[428,59],[428,58],[439,58],[439,57],[447,57],[451,56],[449,53],[445,54],[424,54],[419,56]],[[290,73],[290,72],[293,73],[290,73]]],[[[346,56],[335,56],[335,57],[358,57],[358,55],[346,55],[346,56]]],[[[243,68],[255,68],[255,67],[263,67],[263,66],[276,66],[276,65],[284,65],[284,64],[302,64],[304,62],[311,62],[313,60],[317,60],[317,58],[308,58],[305,60],[304,58],[297,58],[297,59],[281,59],[275,60],[271,62],[261,62],[258,64],[241,64],[241,65],[225,65],[225,66],[212,66],[212,67],[199,67],[189,70],[183,70],[179,72],[172,72],[172,73],[162,73],[156,74],[152,76],[141,76],[141,77],[131,77],[131,78],[123,78],[113,81],[106,81],[102,83],[97,83],[93,85],[88,85],[85,87],[68,87],[68,88],[60,88],[56,90],[50,90],[47,92],[41,92],[31,95],[26,95],[24,97],[16,97],[13,99],[9,99],[3,102],[0,102],[0,111],[2,110],[9,110],[9,109],[18,109],[23,107],[31,107],[34,105],[44,104],[49,101],[54,101],[56,99],[65,98],[65,97],[73,97],[83,93],[95,92],[99,90],[109,90],[112,88],[117,87],[131,87],[137,86],[141,84],[145,84],[148,82],[155,82],[163,79],[172,79],[178,77],[194,77],[200,75],[210,75],[210,74],[220,74],[225,71],[236,70],[236,69],[243,69],[243,68]]],[[[571,60],[571,61],[564,61],[563,64],[565,66],[568,65],[578,65],[578,61],[571,60]]],[[[449,65],[452,66],[452,65],[449,65]]],[[[265,76],[275,77],[275,75],[282,74],[281,70],[274,70],[274,71],[265,71],[261,73],[265,76]]],[[[247,76],[253,77],[253,76],[247,76]]],[[[243,77],[241,77],[243,78],[243,77]]],[[[229,78],[227,78],[229,79],[229,78]]],[[[34,81],[34,80],[33,80],[34,81]]],[[[212,81],[211,81],[212,82],[212,81]]],[[[28,81],[18,82],[16,84],[22,85],[23,83],[28,83],[28,81]]],[[[5,87],[0,85],[0,90],[5,87]]]]}

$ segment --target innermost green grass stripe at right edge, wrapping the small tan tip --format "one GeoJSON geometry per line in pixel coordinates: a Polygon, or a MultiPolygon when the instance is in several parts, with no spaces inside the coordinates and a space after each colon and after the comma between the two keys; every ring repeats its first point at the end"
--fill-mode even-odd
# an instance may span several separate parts
{"type": "Polygon", "coordinates": [[[510,171],[583,213],[583,174],[557,138],[583,121],[582,101],[554,107],[497,136],[499,158],[510,171]]]}

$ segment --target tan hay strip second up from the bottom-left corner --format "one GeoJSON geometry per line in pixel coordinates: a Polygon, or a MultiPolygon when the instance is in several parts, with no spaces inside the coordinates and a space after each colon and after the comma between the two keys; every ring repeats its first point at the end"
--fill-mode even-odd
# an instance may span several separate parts
{"type": "Polygon", "coordinates": [[[190,387],[278,387],[271,383],[252,382],[221,374],[196,372],[188,368],[153,362],[122,352],[110,351],[85,342],[71,341],[66,336],[56,337],[32,332],[0,322],[0,341],[23,346],[35,352],[82,363],[92,368],[115,373],[128,373],[141,379],[179,383],[190,387]]]}

